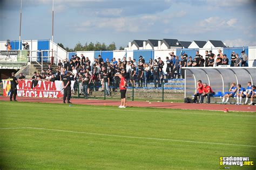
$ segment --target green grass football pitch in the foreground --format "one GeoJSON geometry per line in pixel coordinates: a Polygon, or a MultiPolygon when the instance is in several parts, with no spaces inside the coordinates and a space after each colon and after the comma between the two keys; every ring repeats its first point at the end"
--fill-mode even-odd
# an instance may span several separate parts
{"type": "Polygon", "coordinates": [[[255,112],[0,105],[0,169],[219,169],[230,156],[256,164],[255,112]]]}

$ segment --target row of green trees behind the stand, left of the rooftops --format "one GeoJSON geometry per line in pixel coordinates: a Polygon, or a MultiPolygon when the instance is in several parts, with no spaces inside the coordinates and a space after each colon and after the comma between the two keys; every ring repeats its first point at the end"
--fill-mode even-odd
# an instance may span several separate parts
{"type": "MultiPolygon", "coordinates": [[[[64,47],[64,45],[62,43],[58,43],[58,46],[65,49],[67,52],[74,52],[74,51],[113,51],[113,50],[117,49],[116,44],[114,42],[112,42],[109,45],[106,45],[104,42],[103,43],[96,42],[95,44],[93,42],[90,42],[89,44],[87,44],[87,42],[86,42],[85,45],[82,45],[80,42],[78,42],[75,45],[74,48],[64,47]]],[[[124,47],[120,46],[119,50],[124,50],[124,47]]]]}

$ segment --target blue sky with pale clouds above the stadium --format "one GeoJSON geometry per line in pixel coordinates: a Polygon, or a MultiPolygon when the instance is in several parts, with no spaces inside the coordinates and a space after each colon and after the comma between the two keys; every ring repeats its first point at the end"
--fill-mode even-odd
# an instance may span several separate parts
{"type": "MultiPolygon", "coordinates": [[[[22,39],[51,39],[52,0],[23,0],[22,39]]],[[[0,0],[0,40],[19,38],[20,0],[0,0]]],[[[223,40],[256,46],[254,0],[55,0],[55,42],[223,40]]]]}

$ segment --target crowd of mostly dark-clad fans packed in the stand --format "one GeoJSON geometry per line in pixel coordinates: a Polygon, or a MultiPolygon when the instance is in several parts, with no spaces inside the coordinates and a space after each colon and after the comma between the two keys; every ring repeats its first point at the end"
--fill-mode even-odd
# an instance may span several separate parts
{"type": "MultiPolygon", "coordinates": [[[[112,91],[117,91],[120,79],[119,74],[124,73],[125,79],[129,82],[128,86],[146,87],[148,83],[153,82],[154,87],[160,87],[160,84],[164,79],[180,79],[185,78],[185,71],[181,69],[183,67],[212,67],[213,65],[228,65],[228,59],[225,54],[219,49],[217,59],[212,51],[205,51],[205,57],[196,52],[194,60],[191,56],[187,56],[183,53],[180,56],[174,55],[174,52],[169,53],[170,56],[166,56],[166,69],[164,70],[165,63],[161,58],[145,62],[143,56],[139,56],[139,60],[123,59],[103,60],[102,56],[98,55],[94,61],[90,61],[88,57],[83,54],[80,56],[72,55],[71,59],[65,59],[58,61],[57,68],[53,70],[51,66],[48,69],[42,70],[42,73],[34,73],[31,80],[46,80],[56,81],[62,80],[63,76],[67,72],[71,73],[71,80],[75,80],[73,91],[77,91],[79,88],[80,93],[83,93],[87,98],[92,90],[96,90],[95,87],[100,86],[102,91],[106,91],[106,95],[111,95],[112,91]],[[137,82],[137,83],[136,83],[137,82]]],[[[238,54],[232,52],[231,66],[245,66],[247,61],[247,55],[244,51],[241,52],[241,58],[238,54]]],[[[23,79],[20,75],[20,79],[23,79]]],[[[33,87],[33,86],[32,86],[33,87]]]]}

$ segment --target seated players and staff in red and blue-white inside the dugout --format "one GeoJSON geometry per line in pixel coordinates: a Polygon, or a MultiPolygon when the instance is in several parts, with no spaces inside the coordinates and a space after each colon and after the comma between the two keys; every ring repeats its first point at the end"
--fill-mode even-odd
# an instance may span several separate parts
{"type": "MultiPolygon", "coordinates": [[[[204,97],[207,97],[206,103],[210,103],[211,97],[214,95],[215,93],[210,86],[206,83],[202,83],[201,80],[198,80],[196,93],[193,95],[192,103],[204,103],[204,97]]],[[[222,104],[227,104],[230,98],[233,97],[237,101],[237,103],[235,103],[237,105],[242,104],[242,98],[245,98],[245,102],[243,104],[247,104],[248,100],[250,100],[251,102],[248,104],[252,105],[253,99],[256,98],[256,88],[254,85],[252,86],[252,82],[248,82],[246,88],[241,87],[241,84],[237,84],[236,86],[233,82],[230,89],[219,97],[222,99],[222,104]]]]}

